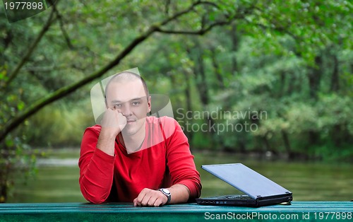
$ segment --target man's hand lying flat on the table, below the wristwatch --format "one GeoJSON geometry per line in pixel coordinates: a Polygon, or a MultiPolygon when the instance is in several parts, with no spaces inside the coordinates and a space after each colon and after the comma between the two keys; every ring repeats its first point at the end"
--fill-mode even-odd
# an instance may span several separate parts
{"type": "Polygon", "coordinates": [[[167,201],[168,198],[159,190],[145,188],[133,200],[133,206],[162,206],[167,201]]]}

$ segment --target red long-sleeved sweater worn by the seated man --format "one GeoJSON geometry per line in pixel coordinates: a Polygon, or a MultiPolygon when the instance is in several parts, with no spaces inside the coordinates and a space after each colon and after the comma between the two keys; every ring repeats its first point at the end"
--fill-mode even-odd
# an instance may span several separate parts
{"type": "Polygon", "coordinates": [[[96,204],[131,202],[143,188],[167,188],[175,184],[188,187],[191,199],[200,197],[200,174],[177,121],[170,117],[147,117],[140,151],[128,154],[117,141],[114,156],[96,148],[100,129],[100,125],[88,127],[83,134],[78,165],[85,199],[96,204]]]}

